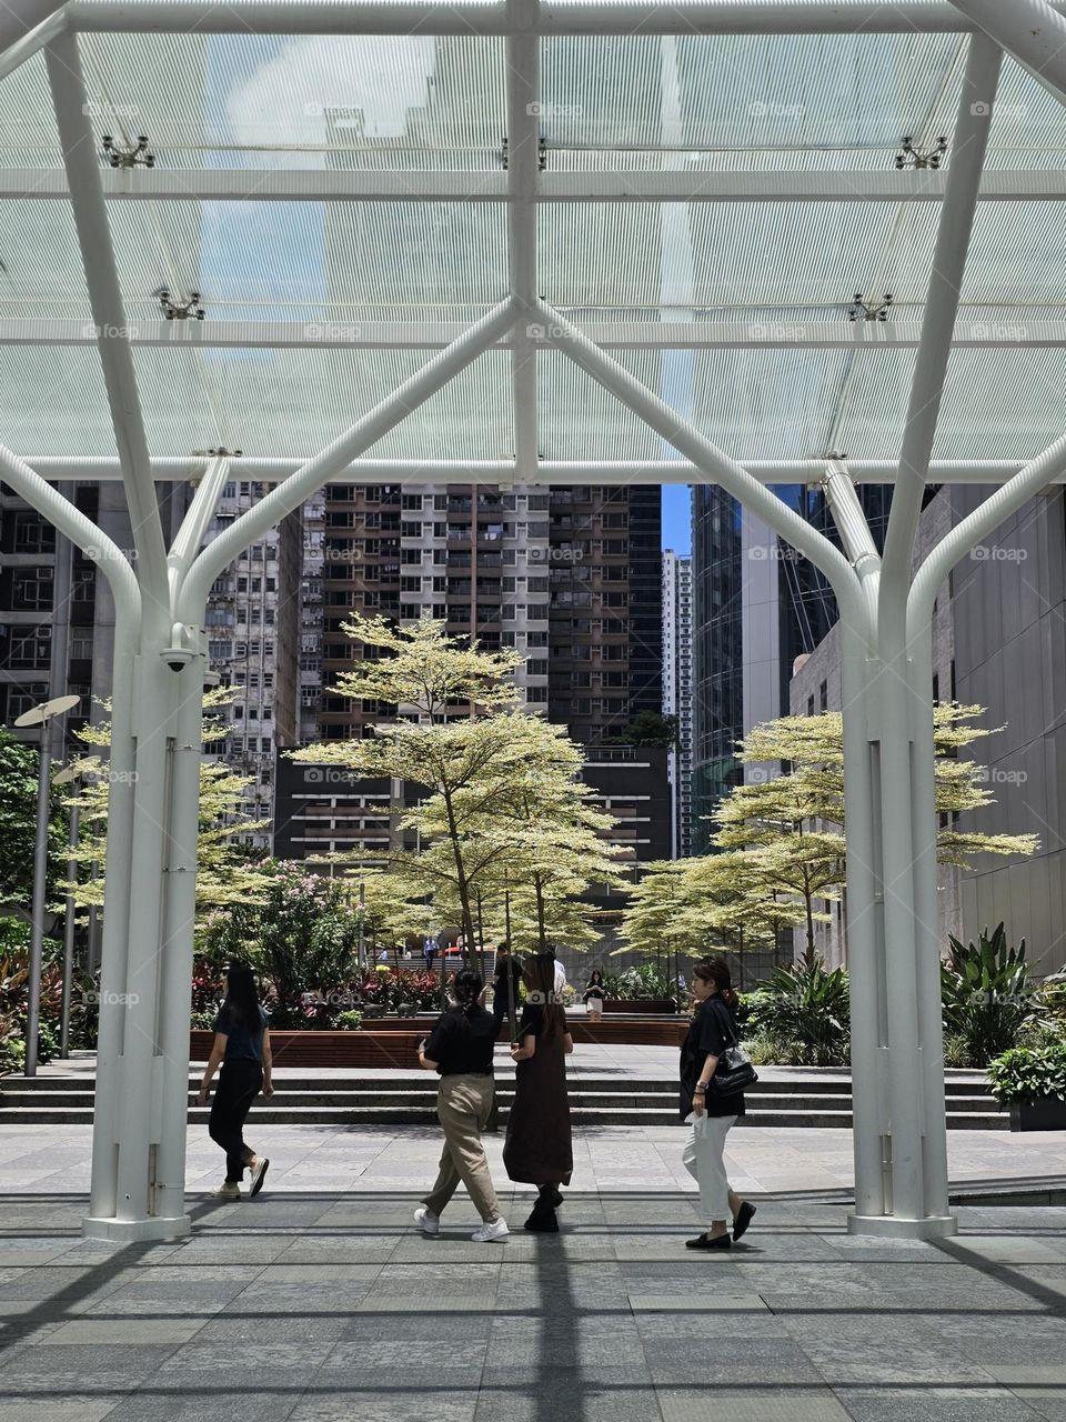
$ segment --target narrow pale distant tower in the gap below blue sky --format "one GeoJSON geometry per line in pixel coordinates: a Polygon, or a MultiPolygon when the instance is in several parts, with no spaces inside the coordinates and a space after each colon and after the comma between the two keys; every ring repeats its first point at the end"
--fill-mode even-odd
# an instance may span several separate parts
{"type": "Polygon", "coordinates": [[[662,714],[675,717],[668,759],[672,857],[692,853],[692,559],[662,555],[662,714]]]}

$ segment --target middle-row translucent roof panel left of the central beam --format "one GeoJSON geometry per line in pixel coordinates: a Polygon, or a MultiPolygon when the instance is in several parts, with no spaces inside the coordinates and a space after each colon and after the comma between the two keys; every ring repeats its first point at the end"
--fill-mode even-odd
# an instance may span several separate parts
{"type": "MultiPolygon", "coordinates": [[[[502,203],[114,202],[108,220],[138,323],[161,287],[230,321],[475,320],[506,296],[502,203]]],[[[88,320],[68,203],[0,203],[0,314],[88,320]]]]}

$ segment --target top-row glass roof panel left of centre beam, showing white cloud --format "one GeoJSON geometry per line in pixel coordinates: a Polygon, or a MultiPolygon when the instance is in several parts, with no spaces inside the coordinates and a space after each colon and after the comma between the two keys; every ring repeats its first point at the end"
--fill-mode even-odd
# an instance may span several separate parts
{"type": "Polygon", "coordinates": [[[92,34],[94,100],[168,166],[500,166],[503,40],[92,34]]]}

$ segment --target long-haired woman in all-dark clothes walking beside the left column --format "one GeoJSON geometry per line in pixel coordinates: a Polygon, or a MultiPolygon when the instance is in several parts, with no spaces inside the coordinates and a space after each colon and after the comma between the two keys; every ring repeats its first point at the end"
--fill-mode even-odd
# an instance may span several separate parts
{"type": "Polygon", "coordinates": [[[270,1031],[260,1007],[252,968],[235,964],[226,977],[226,998],[215,1018],[215,1044],[203,1068],[199,1103],[206,1106],[215,1072],[219,1089],[210,1108],[208,1132],[226,1152],[226,1179],[212,1196],[239,1200],[244,1170],[252,1172],[249,1199],[263,1189],[270,1162],[244,1145],[244,1122],[252,1102],[263,1092],[273,1096],[270,1031]]]}

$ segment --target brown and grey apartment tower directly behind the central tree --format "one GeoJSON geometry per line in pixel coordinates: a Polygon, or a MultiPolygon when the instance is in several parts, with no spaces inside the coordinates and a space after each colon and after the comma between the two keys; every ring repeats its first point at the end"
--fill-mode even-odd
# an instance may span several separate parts
{"type": "Polygon", "coordinates": [[[324,739],[381,714],[331,693],[357,610],[513,647],[524,704],[584,744],[661,708],[658,489],[331,483],[321,569],[324,739]]]}

